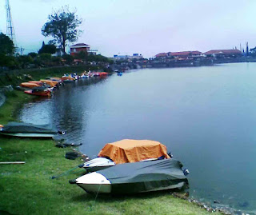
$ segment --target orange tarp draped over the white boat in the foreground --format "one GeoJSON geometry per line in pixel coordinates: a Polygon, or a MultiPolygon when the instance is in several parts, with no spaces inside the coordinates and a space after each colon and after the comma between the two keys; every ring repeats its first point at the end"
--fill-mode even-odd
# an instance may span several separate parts
{"type": "Polygon", "coordinates": [[[166,145],[158,141],[129,139],[107,143],[98,153],[98,157],[110,157],[116,164],[138,162],[161,156],[170,158],[166,145]]]}

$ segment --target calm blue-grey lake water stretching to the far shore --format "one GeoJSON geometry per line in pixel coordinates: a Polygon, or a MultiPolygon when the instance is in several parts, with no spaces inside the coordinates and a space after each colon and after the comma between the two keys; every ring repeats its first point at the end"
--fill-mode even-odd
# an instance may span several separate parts
{"type": "Polygon", "coordinates": [[[190,169],[190,197],[256,211],[256,63],[82,79],[19,118],[66,130],[89,157],[124,138],[160,141],[190,169]]]}

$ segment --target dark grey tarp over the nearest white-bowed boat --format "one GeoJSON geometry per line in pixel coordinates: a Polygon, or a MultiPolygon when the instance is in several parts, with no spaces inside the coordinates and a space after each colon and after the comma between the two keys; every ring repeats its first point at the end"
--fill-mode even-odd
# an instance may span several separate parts
{"type": "Polygon", "coordinates": [[[114,165],[97,173],[110,181],[112,193],[139,193],[189,185],[182,163],[175,159],[114,165]]]}

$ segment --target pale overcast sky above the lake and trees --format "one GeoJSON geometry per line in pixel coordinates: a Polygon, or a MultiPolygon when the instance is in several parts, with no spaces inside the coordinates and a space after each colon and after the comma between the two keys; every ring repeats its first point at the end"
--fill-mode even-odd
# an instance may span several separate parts
{"type": "MultiPolygon", "coordinates": [[[[4,34],[5,2],[0,2],[4,34]]],[[[50,40],[41,34],[48,15],[66,5],[83,20],[78,42],[108,57],[256,46],[255,0],[10,0],[18,46],[38,51],[50,40]]]]}

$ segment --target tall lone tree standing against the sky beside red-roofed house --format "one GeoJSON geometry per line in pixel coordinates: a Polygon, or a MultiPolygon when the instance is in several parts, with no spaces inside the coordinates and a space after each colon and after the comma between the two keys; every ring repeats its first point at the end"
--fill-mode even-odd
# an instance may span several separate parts
{"type": "Polygon", "coordinates": [[[66,43],[77,41],[82,33],[81,30],[78,30],[82,19],[79,19],[75,12],[70,12],[67,6],[50,14],[48,19],[48,22],[42,26],[42,35],[53,37],[54,42],[58,43],[62,51],[66,53],[66,43]]]}

